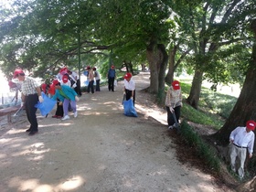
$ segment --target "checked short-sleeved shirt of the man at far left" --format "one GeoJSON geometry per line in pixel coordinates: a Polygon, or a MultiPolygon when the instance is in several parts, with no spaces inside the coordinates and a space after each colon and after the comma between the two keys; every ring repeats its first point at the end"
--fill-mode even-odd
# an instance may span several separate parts
{"type": "Polygon", "coordinates": [[[21,84],[21,91],[25,96],[30,95],[30,94],[36,94],[37,87],[40,87],[40,85],[37,83],[36,80],[34,80],[30,77],[26,77],[25,80],[21,84]]]}

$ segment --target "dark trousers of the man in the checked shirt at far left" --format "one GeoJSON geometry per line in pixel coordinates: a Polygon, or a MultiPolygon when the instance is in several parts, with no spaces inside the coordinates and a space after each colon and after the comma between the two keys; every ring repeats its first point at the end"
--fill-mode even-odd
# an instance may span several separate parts
{"type": "Polygon", "coordinates": [[[29,129],[31,131],[37,132],[38,131],[38,123],[37,123],[37,108],[35,104],[37,104],[38,96],[36,94],[27,95],[25,97],[25,109],[27,114],[27,120],[30,123],[29,129]]]}

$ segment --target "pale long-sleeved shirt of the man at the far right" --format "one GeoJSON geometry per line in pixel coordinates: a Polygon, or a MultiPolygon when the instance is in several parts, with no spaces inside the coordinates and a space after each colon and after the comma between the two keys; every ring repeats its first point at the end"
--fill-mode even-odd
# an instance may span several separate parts
{"type": "Polygon", "coordinates": [[[237,127],[229,136],[229,140],[234,140],[233,144],[248,147],[248,152],[250,154],[253,152],[254,138],[254,133],[252,131],[247,133],[246,127],[237,127]]]}

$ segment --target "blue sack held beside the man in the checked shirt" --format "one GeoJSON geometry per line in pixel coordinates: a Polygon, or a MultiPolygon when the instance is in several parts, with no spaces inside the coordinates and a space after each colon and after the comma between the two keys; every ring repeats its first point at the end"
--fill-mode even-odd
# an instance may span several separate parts
{"type": "Polygon", "coordinates": [[[48,98],[48,96],[43,92],[42,92],[42,97],[44,101],[43,102],[37,101],[37,104],[35,104],[35,107],[40,110],[43,116],[46,116],[49,112],[52,111],[52,109],[56,105],[56,101],[48,98]]]}

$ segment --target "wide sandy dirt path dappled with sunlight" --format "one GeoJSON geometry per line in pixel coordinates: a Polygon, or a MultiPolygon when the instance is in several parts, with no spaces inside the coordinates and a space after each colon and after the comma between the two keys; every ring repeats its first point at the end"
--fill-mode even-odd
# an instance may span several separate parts
{"type": "Polygon", "coordinates": [[[38,116],[34,136],[25,133],[28,124],[10,127],[0,136],[0,191],[223,191],[212,176],[176,160],[165,111],[140,91],[148,73],[133,79],[138,118],[123,115],[119,82],[114,92],[83,94],[76,119],[38,116]]]}

